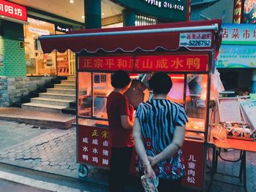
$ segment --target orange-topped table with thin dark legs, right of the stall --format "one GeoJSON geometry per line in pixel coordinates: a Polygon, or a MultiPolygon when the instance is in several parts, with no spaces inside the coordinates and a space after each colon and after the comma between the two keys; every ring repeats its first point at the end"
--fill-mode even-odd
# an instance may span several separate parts
{"type": "MultiPolygon", "coordinates": [[[[240,187],[244,187],[244,191],[247,192],[247,186],[246,186],[246,151],[249,152],[256,152],[256,142],[253,141],[246,141],[241,139],[227,139],[227,142],[220,142],[219,140],[214,140],[214,149],[213,149],[213,158],[212,158],[212,170],[211,170],[211,183],[214,179],[215,174],[224,174],[229,177],[237,177],[241,182],[243,182],[243,185],[238,185],[240,187]],[[240,157],[235,160],[227,160],[221,157],[220,151],[221,149],[234,149],[234,150],[240,150],[240,157]],[[217,172],[217,165],[218,165],[218,158],[222,158],[224,161],[229,162],[238,162],[241,161],[240,164],[240,171],[239,175],[232,175],[232,174],[225,174],[223,172],[217,172]]],[[[218,182],[226,183],[220,180],[215,180],[218,182]]],[[[211,183],[210,186],[211,187],[211,183]]],[[[231,184],[231,183],[227,183],[231,184]]]]}

